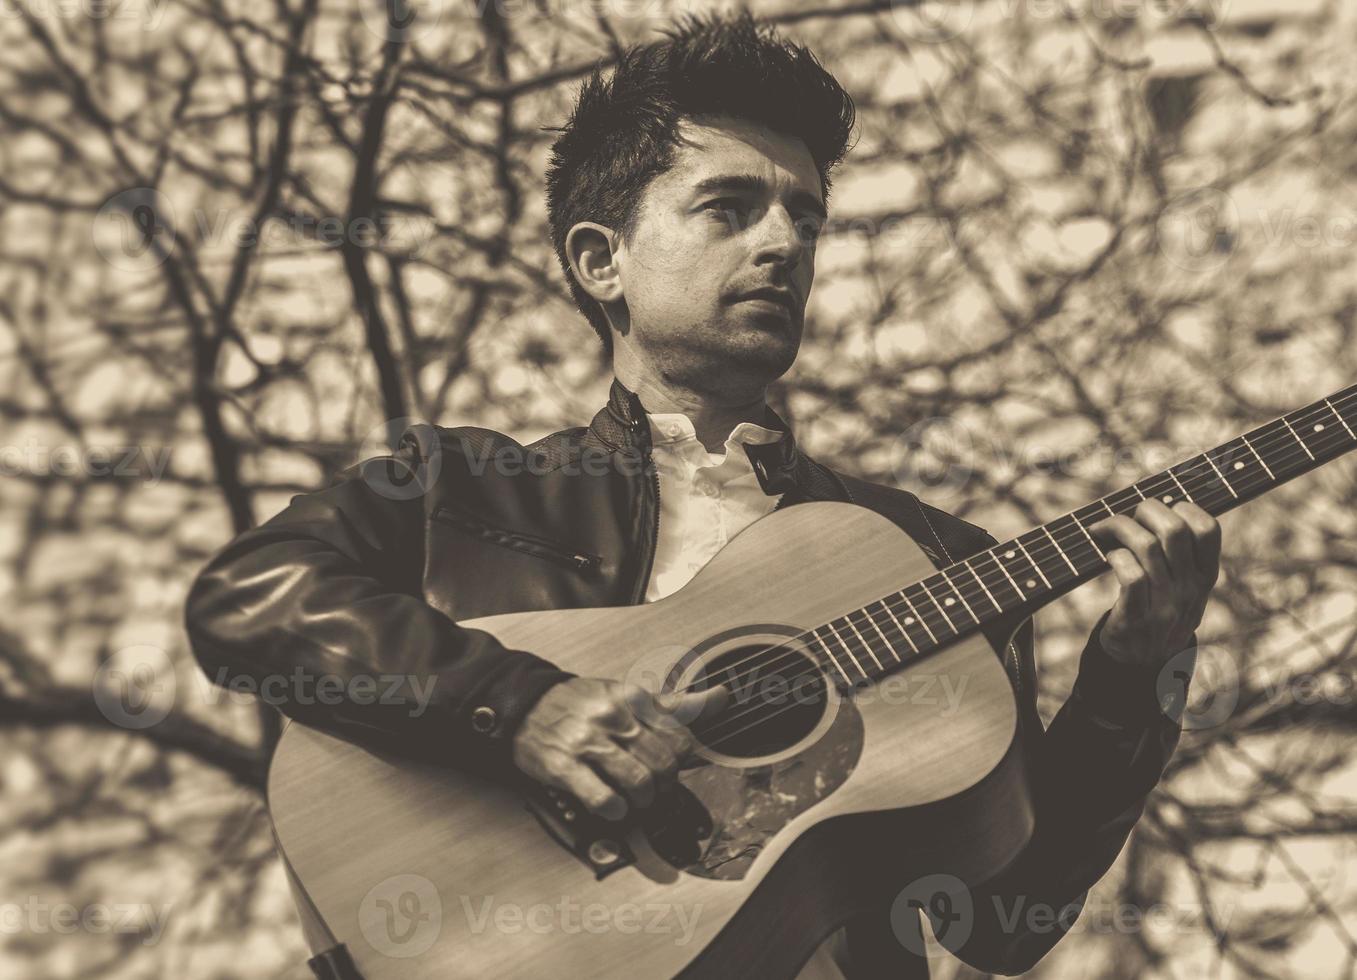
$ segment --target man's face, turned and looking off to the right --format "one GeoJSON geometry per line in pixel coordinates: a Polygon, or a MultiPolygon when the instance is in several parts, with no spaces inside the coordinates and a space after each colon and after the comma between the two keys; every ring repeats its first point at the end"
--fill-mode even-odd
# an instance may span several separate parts
{"type": "Polygon", "coordinates": [[[820,174],[805,143],[752,122],[703,117],[678,132],[674,166],[615,252],[626,305],[615,342],[693,390],[767,385],[801,346],[820,174]]]}

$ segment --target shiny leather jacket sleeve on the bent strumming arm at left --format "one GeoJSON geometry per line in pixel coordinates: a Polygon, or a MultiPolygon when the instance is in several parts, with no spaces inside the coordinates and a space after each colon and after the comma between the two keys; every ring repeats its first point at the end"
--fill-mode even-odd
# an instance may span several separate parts
{"type": "Polygon", "coordinates": [[[198,574],[189,639],[217,684],[313,728],[422,761],[499,772],[522,717],[573,675],[423,601],[437,432],[300,494],[198,574]]]}

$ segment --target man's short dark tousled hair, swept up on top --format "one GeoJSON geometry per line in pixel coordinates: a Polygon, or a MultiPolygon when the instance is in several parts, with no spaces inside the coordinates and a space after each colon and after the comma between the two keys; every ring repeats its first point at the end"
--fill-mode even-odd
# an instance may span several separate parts
{"type": "Polygon", "coordinates": [[[608,320],[570,271],[566,235],[579,221],[634,233],[646,187],[673,166],[681,119],[730,115],[798,137],[826,205],[854,126],[852,98],[816,56],[748,11],[689,15],[662,34],[623,52],[611,77],[596,69],[585,79],[547,167],[551,244],[575,305],[608,350],[608,320]]]}

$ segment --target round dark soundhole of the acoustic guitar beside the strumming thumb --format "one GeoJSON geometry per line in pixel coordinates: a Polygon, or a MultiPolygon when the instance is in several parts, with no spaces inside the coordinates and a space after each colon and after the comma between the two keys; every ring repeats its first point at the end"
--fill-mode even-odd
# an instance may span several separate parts
{"type": "Polygon", "coordinates": [[[726,710],[697,723],[693,737],[708,749],[735,759],[757,759],[795,745],[825,714],[826,681],[805,652],[767,645],[723,650],[703,665],[692,684],[725,685],[726,710]]]}

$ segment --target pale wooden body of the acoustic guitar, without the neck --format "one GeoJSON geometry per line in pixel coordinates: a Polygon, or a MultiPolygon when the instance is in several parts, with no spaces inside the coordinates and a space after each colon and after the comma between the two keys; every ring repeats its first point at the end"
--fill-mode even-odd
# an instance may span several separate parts
{"type": "MultiPolygon", "coordinates": [[[[886,519],[813,502],[754,523],[668,599],[463,624],[661,691],[934,571],[886,519]]],[[[925,874],[982,881],[1031,832],[1014,694],[982,635],[875,688],[825,688],[780,742],[702,745],[683,816],[616,839],[578,817],[588,839],[562,839],[550,804],[509,786],[292,723],[269,775],[278,846],[368,980],[792,977],[856,912],[925,874]],[[581,848],[627,858],[604,873],[581,848]]]]}

